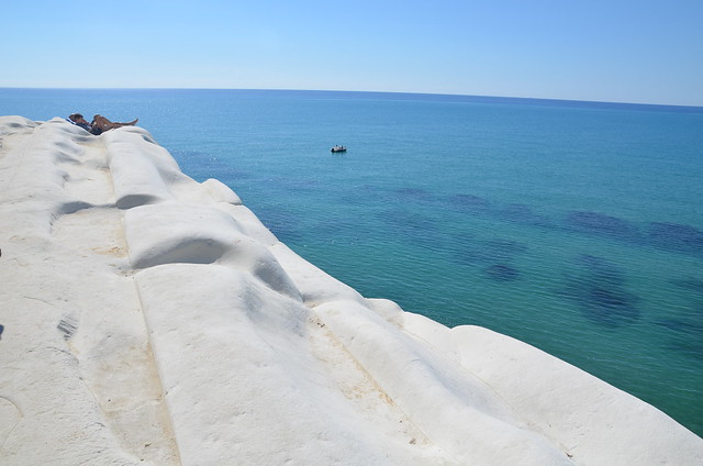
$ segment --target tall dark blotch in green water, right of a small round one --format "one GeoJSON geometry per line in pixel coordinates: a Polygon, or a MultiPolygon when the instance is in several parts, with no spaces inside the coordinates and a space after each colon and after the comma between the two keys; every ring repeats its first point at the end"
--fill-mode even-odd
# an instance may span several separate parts
{"type": "Polygon", "coordinates": [[[563,295],[576,301],[583,315],[606,328],[618,328],[639,319],[637,297],[625,289],[621,269],[602,257],[582,255],[578,269],[567,275],[563,295]]]}

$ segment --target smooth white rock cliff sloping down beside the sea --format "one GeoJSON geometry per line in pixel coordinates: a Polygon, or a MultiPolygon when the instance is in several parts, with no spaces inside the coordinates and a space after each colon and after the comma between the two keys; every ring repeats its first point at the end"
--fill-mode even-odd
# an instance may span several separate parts
{"type": "Polygon", "coordinates": [[[3,465],[703,461],[544,352],[360,296],[143,129],[0,136],[3,465]]]}

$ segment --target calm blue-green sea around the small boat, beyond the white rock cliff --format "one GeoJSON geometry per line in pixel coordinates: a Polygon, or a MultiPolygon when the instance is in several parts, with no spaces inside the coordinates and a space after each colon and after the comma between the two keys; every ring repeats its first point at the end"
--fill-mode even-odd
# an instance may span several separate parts
{"type": "Polygon", "coordinates": [[[3,115],[72,112],[138,118],[361,295],[527,342],[703,435],[703,108],[0,89],[3,115]]]}

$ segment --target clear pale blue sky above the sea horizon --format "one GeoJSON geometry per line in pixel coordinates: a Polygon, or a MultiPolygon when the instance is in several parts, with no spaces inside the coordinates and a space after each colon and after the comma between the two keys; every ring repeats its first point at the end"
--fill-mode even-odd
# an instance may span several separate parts
{"type": "Polygon", "coordinates": [[[703,106],[703,0],[1,1],[0,87],[703,106]]]}

